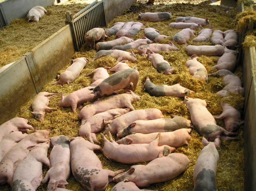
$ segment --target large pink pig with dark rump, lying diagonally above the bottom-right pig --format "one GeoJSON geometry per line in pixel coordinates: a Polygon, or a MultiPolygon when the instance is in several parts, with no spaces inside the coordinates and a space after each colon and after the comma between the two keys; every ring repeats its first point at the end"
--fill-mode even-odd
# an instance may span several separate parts
{"type": "Polygon", "coordinates": [[[214,117],[206,108],[205,100],[186,96],[184,103],[190,112],[192,124],[203,137],[209,141],[214,141],[217,137],[224,140],[236,140],[229,136],[237,135],[237,133],[228,132],[216,124],[214,117]]]}

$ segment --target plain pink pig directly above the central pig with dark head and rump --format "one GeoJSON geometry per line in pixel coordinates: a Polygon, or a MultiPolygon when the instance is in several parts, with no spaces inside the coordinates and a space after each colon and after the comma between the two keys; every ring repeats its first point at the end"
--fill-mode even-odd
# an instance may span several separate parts
{"type": "Polygon", "coordinates": [[[121,115],[114,120],[106,121],[106,127],[103,134],[105,135],[108,132],[110,132],[111,134],[117,134],[121,132],[123,128],[127,127],[128,125],[137,120],[155,120],[159,118],[164,118],[162,112],[159,109],[138,109],[121,115]]]}

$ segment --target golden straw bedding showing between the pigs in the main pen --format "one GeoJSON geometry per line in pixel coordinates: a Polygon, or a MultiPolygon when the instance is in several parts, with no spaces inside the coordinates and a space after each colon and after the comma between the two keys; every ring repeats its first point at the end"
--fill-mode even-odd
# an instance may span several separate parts
{"type": "MultiPolygon", "coordinates": [[[[213,30],[228,30],[235,29],[235,17],[237,13],[237,9],[220,7],[220,6],[210,6],[210,1],[206,1],[204,3],[200,3],[198,5],[194,4],[172,4],[172,5],[159,5],[159,6],[145,6],[145,4],[134,3],[131,9],[126,10],[123,15],[118,16],[113,19],[111,23],[108,23],[107,28],[111,27],[111,25],[115,22],[127,22],[127,21],[137,21],[138,14],[137,12],[162,12],[167,11],[172,13],[172,18],[169,21],[162,22],[147,22],[145,27],[153,27],[160,30],[160,34],[164,34],[170,36],[167,39],[161,40],[160,43],[167,44],[172,37],[180,31],[180,29],[170,29],[168,28],[168,24],[170,22],[175,22],[175,19],[179,16],[195,16],[200,18],[208,17],[210,19],[211,25],[213,25],[213,30]],[[228,13],[226,13],[228,11],[228,13]]],[[[208,28],[208,27],[205,27],[208,28]]],[[[199,29],[195,29],[198,34],[199,29]]],[[[135,36],[135,39],[142,38],[143,31],[140,31],[138,35],[135,36]]],[[[194,37],[193,37],[194,38],[194,37]]],[[[193,39],[191,38],[191,40],[193,39]]],[[[113,40],[114,37],[108,37],[106,40],[113,40]]],[[[191,45],[201,45],[200,43],[188,41],[188,44],[191,45]]],[[[210,45],[210,43],[204,43],[205,45],[210,45]]],[[[180,85],[195,91],[195,94],[191,94],[190,97],[205,99],[207,103],[207,108],[213,115],[217,115],[221,113],[220,102],[222,99],[216,95],[215,93],[221,90],[224,87],[223,80],[221,78],[209,77],[208,84],[205,84],[202,80],[193,78],[189,72],[188,68],[185,66],[186,61],[189,59],[189,56],[185,53],[185,45],[177,45],[180,48],[180,51],[171,51],[171,52],[160,52],[161,55],[165,57],[165,59],[173,66],[176,71],[175,74],[170,76],[165,76],[159,74],[155,68],[153,68],[151,61],[147,58],[144,58],[140,55],[137,56],[137,63],[131,63],[131,67],[136,65],[138,67],[138,71],[140,73],[140,79],[138,86],[136,88],[135,93],[142,96],[139,102],[133,104],[135,109],[145,109],[145,108],[159,108],[165,117],[170,118],[171,114],[182,115],[187,119],[190,119],[189,111],[185,104],[183,104],[183,98],[165,96],[165,97],[154,97],[150,96],[148,93],[145,93],[142,89],[142,86],[145,82],[145,78],[149,77],[151,81],[155,84],[161,85],[173,85],[176,83],[180,83],[180,85]]],[[[127,50],[130,51],[130,50],[127,50]]],[[[136,54],[137,51],[133,50],[136,54]]],[[[73,55],[73,59],[79,57],[87,57],[92,60],[95,56],[95,51],[89,49],[87,45],[84,45],[79,52],[76,52],[73,55]]],[[[215,65],[218,61],[218,58],[215,57],[206,57],[200,56],[198,58],[208,73],[212,73],[215,70],[211,69],[213,65],[215,65]]],[[[70,61],[71,63],[71,61],[70,61]]],[[[70,63],[64,67],[59,73],[62,73],[70,63]]],[[[43,88],[43,91],[50,93],[64,93],[67,95],[71,92],[74,92],[80,88],[88,86],[91,84],[91,78],[86,77],[86,75],[94,70],[97,67],[113,67],[115,63],[115,59],[112,57],[102,57],[97,59],[96,61],[90,61],[87,66],[81,71],[80,76],[74,80],[72,85],[55,85],[51,86],[52,82],[55,82],[55,79],[46,84],[43,88]]],[[[129,62],[130,63],[130,62],[129,62]]],[[[113,74],[109,72],[109,74],[113,74]]],[[[241,66],[238,66],[235,74],[242,78],[241,66]]],[[[124,90],[119,90],[119,93],[124,93],[124,90]]],[[[33,100],[33,99],[32,99],[33,100]]],[[[20,112],[17,114],[17,117],[29,118],[32,116],[30,112],[32,111],[30,100],[25,106],[21,107],[20,112]]],[[[66,136],[76,136],[78,134],[78,129],[80,126],[80,120],[78,120],[78,115],[74,114],[71,110],[71,107],[63,108],[57,106],[60,100],[60,96],[56,96],[51,98],[49,107],[55,108],[56,111],[52,113],[47,113],[45,115],[45,119],[43,122],[38,122],[34,119],[29,119],[29,124],[34,127],[38,127],[39,129],[47,129],[50,128],[51,134],[50,136],[57,135],[66,135],[66,136]]],[[[240,112],[243,110],[244,98],[239,95],[231,95],[228,99],[228,102],[237,108],[240,112]]],[[[86,104],[84,104],[86,105],[86,104]]],[[[79,113],[80,109],[77,109],[79,113]]],[[[217,124],[224,127],[223,121],[218,120],[217,124]]],[[[237,130],[239,138],[238,141],[221,141],[221,147],[218,149],[220,154],[220,161],[217,167],[216,174],[216,183],[219,191],[240,191],[244,188],[244,139],[243,139],[243,127],[240,127],[237,130]]],[[[198,133],[193,130],[191,133],[192,140],[189,142],[189,146],[179,147],[176,152],[185,154],[192,162],[196,162],[197,157],[202,150],[202,137],[198,135],[198,133]]],[[[115,136],[113,136],[115,137],[115,136]]],[[[97,134],[98,140],[101,142],[99,134],[97,134]]],[[[101,145],[103,146],[103,145],[101,145]]],[[[50,152],[49,152],[50,154],[50,152]]],[[[115,162],[106,162],[103,154],[97,153],[99,159],[103,164],[104,169],[109,170],[119,170],[125,168],[126,170],[130,169],[131,165],[115,163],[115,162]]],[[[144,163],[141,163],[144,164],[144,163]]],[[[145,163],[146,164],[146,163],[145,163]]],[[[193,190],[193,170],[194,164],[189,164],[188,169],[179,175],[174,180],[170,180],[167,182],[157,183],[151,185],[148,189],[151,190],[164,190],[164,191],[192,191],[193,190]]],[[[45,176],[47,169],[43,169],[43,175],[45,176]]],[[[67,185],[67,189],[73,191],[85,190],[81,187],[79,183],[71,175],[69,179],[69,184],[67,185]]],[[[110,183],[107,187],[107,191],[110,191],[115,183],[110,183]]],[[[2,190],[10,190],[8,186],[1,187],[2,190]]],[[[47,184],[40,185],[38,190],[45,191],[47,189],[47,184]]]]}

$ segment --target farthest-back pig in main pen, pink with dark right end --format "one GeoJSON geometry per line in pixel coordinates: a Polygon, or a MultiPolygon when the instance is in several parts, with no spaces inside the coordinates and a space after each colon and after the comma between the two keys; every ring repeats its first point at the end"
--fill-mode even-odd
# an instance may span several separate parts
{"type": "Polygon", "coordinates": [[[145,12],[145,13],[138,13],[139,18],[138,20],[144,21],[151,21],[151,22],[159,22],[163,20],[170,20],[171,13],[169,12],[145,12]]]}

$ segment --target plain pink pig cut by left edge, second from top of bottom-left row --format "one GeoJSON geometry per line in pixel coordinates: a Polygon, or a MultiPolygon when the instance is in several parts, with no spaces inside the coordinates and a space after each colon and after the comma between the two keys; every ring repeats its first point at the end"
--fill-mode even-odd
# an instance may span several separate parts
{"type": "Polygon", "coordinates": [[[22,134],[20,131],[12,131],[9,135],[5,137],[2,141],[0,141],[0,162],[6,153],[14,147],[18,142],[24,139],[27,136],[26,133],[22,134]]]}

